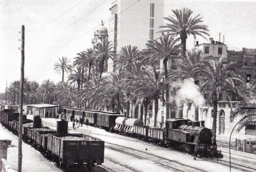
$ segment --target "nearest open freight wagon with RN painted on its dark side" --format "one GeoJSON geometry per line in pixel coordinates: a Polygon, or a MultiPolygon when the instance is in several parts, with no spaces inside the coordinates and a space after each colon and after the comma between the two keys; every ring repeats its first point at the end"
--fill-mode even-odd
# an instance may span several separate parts
{"type": "Polygon", "coordinates": [[[104,162],[105,142],[85,134],[48,134],[48,156],[61,168],[91,169],[104,162]]]}

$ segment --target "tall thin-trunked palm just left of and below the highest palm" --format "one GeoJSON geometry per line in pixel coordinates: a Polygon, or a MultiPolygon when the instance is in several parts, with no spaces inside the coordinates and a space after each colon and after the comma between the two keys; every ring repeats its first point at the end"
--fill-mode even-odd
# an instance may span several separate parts
{"type": "MultiPolygon", "coordinates": [[[[160,37],[160,41],[158,40],[149,40],[147,45],[147,49],[144,51],[146,55],[146,59],[144,61],[157,62],[162,60],[164,66],[164,77],[165,77],[165,93],[166,99],[165,101],[169,101],[169,84],[167,83],[168,78],[168,69],[167,69],[167,61],[174,60],[174,57],[177,55],[176,44],[177,39],[174,39],[172,35],[163,35],[160,37]]],[[[169,117],[169,103],[166,103],[166,117],[169,117]]]]}

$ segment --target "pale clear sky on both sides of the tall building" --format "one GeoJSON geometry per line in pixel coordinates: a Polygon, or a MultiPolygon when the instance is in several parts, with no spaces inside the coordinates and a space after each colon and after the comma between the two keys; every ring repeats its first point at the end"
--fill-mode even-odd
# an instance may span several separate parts
{"type": "MultiPolygon", "coordinates": [[[[73,61],[80,51],[92,47],[94,30],[103,20],[108,27],[113,0],[0,0],[0,93],[20,80],[21,26],[25,25],[25,77],[39,84],[45,79],[61,81],[54,63],[66,56],[73,61]]],[[[190,8],[200,14],[210,37],[221,42],[225,35],[228,50],[256,48],[256,2],[165,0],[164,16],[172,10],[190,8]]],[[[166,21],[164,21],[166,23],[166,21]]],[[[209,37],[207,37],[208,39],[209,37]]],[[[197,37],[199,43],[208,40],[197,37]]],[[[194,38],[187,39],[187,49],[194,38]]],[[[67,74],[64,80],[67,80],[67,74]]]]}

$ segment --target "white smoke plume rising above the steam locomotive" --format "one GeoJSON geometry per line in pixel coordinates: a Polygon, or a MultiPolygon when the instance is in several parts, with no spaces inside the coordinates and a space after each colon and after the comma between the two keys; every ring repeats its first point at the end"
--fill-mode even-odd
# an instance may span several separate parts
{"type": "Polygon", "coordinates": [[[194,78],[184,79],[183,81],[174,83],[174,85],[178,87],[176,96],[174,97],[178,107],[188,101],[192,101],[196,106],[205,103],[202,93],[199,92],[199,86],[194,82],[194,78]]]}

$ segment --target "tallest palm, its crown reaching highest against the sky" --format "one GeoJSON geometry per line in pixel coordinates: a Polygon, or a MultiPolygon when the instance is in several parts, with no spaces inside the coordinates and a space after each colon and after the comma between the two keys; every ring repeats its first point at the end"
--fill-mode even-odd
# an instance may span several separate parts
{"type": "Polygon", "coordinates": [[[182,10],[172,10],[172,12],[174,13],[173,16],[164,18],[170,23],[161,26],[164,28],[162,32],[179,36],[182,45],[182,55],[185,56],[187,36],[191,34],[194,37],[199,35],[205,38],[204,35],[209,36],[208,29],[206,25],[202,24],[203,21],[200,14],[193,18],[191,16],[193,11],[188,8],[183,8],[182,10]]]}

